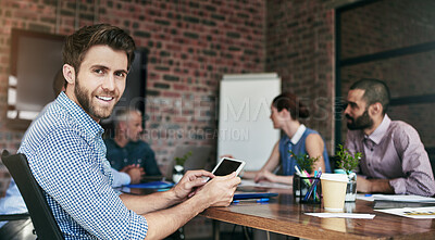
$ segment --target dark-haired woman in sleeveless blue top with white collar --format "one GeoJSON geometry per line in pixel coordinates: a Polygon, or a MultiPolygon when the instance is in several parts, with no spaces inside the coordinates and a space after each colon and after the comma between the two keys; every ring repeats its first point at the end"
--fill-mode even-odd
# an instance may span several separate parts
{"type": "Polygon", "coordinates": [[[307,128],[299,122],[299,118],[309,116],[308,109],[289,92],[277,96],[271,106],[271,119],[275,129],[281,129],[284,135],[278,140],[268,162],[258,172],[245,172],[244,178],[253,178],[254,181],[272,181],[290,185],[295,174],[296,160],[289,153],[296,155],[308,154],[310,157],[318,157],[312,173],[320,167],[325,173],[331,172],[330,159],[326,152],[325,142],[318,131],[307,128]],[[273,170],[281,164],[283,176],[273,174],[273,170]]]}

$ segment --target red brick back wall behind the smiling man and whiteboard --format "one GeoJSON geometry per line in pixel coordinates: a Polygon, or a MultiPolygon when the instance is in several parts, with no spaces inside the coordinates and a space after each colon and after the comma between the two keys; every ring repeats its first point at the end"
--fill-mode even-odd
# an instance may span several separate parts
{"type": "Polygon", "coordinates": [[[176,144],[216,144],[220,79],[264,72],[264,0],[1,0],[0,149],[15,152],[23,137],[4,124],[13,27],[67,35],[104,22],[130,33],[149,51],[145,140],[164,165],[176,144]]]}

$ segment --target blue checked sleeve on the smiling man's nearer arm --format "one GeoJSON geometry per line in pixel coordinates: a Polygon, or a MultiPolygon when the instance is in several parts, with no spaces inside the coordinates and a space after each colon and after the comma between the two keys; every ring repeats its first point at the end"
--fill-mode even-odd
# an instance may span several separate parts
{"type": "Polygon", "coordinates": [[[79,225],[99,239],[145,237],[146,219],[127,210],[109,185],[110,164],[94,156],[74,130],[59,129],[40,142],[38,156],[29,155],[28,161],[48,202],[62,220],[67,215],[66,226],[79,225]]]}

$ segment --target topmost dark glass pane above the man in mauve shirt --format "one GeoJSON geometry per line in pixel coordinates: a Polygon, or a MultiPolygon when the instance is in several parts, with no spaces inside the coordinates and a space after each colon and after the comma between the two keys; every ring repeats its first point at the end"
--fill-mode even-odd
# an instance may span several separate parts
{"type": "Polygon", "coordinates": [[[435,40],[435,2],[383,0],[341,16],[341,58],[435,40]]]}

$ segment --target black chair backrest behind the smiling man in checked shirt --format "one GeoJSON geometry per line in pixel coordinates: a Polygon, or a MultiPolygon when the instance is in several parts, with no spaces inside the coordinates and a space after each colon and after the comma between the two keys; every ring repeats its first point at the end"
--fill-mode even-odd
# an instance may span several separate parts
{"type": "Polygon", "coordinates": [[[23,195],[38,239],[63,239],[42,189],[30,172],[26,156],[22,153],[10,155],[4,150],[1,160],[23,195]]]}

